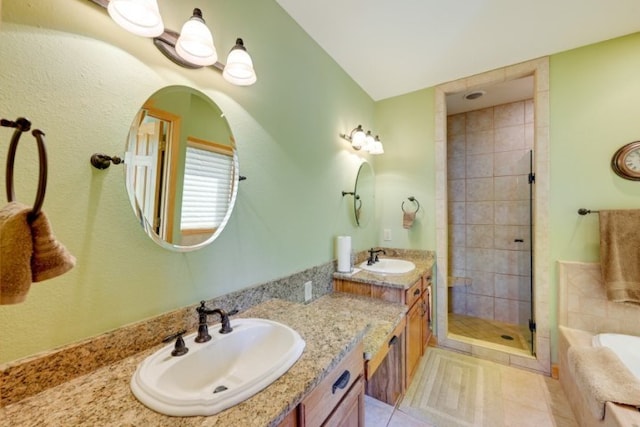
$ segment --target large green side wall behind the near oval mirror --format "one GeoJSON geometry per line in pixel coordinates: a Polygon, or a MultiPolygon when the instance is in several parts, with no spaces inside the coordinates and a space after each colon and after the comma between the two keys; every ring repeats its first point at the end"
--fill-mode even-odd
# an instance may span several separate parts
{"type": "MultiPolygon", "coordinates": [[[[78,263],[33,284],[25,303],[0,306],[0,363],[326,263],[337,235],[353,236],[357,250],[377,242],[373,223],[359,229],[348,215],[341,191],[353,187],[363,157],[338,136],[357,123],[371,127],[371,98],[273,1],[159,4],[176,30],[199,5],[222,61],[242,36],[257,84],[234,87],[215,70],[182,69],[88,0],[2,3],[0,116],[27,116],[46,133],[44,210],[78,263]],[[121,167],[89,164],[94,152],[121,155],[140,106],[177,84],[225,111],[248,177],[228,227],[192,253],[164,250],[143,233],[121,167]]],[[[10,136],[0,129],[2,165],[10,136]]],[[[30,138],[16,160],[25,203],[37,177],[30,138]]]]}

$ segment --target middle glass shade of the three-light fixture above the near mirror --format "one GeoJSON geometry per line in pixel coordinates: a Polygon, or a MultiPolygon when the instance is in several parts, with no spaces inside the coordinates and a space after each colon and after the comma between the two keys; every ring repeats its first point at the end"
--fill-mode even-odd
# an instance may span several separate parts
{"type": "Polygon", "coordinates": [[[193,16],[182,26],[176,52],[185,61],[203,67],[213,65],[218,60],[213,36],[202,19],[200,9],[194,9],[193,16]]]}

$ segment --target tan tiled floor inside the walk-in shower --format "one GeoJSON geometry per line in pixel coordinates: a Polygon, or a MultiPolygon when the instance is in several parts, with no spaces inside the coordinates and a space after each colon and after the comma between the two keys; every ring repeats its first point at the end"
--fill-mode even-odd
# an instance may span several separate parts
{"type": "Polygon", "coordinates": [[[513,325],[497,320],[449,313],[449,332],[517,350],[531,351],[531,333],[528,325],[513,325]],[[510,340],[503,336],[513,339],[510,340]]]}

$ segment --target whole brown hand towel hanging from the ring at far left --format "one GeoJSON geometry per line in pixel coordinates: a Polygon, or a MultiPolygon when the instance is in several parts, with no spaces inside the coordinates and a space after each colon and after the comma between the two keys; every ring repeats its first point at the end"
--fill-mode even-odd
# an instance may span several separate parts
{"type": "Polygon", "coordinates": [[[76,262],[54,237],[46,214],[29,223],[29,212],[18,202],[0,209],[0,305],[24,301],[31,282],[66,273],[76,262]]]}

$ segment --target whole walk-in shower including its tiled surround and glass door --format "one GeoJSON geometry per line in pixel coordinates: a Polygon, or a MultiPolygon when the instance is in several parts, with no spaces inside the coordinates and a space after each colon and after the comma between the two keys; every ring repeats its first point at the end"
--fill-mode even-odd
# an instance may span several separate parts
{"type": "Polygon", "coordinates": [[[549,375],[549,60],[444,83],[434,97],[438,345],[549,375]],[[491,100],[503,84],[527,80],[528,95],[491,100]],[[477,91],[485,93],[464,99],[477,91]],[[475,105],[456,110],[447,98],[475,105]],[[459,334],[457,320],[483,333],[498,322],[497,337],[459,334]],[[509,346],[523,329],[526,350],[509,346]]]}

